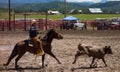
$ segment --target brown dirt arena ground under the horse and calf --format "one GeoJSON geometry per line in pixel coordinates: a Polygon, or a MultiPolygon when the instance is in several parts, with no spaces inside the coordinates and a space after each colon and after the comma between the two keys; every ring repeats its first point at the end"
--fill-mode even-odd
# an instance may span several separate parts
{"type": "Polygon", "coordinates": [[[14,60],[4,67],[12,52],[14,45],[21,40],[28,38],[28,33],[24,31],[1,31],[0,32],[0,72],[120,72],[120,31],[80,31],[68,30],[59,31],[64,37],[62,40],[54,39],[52,42],[52,52],[62,64],[49,55],[45,57],[46,67],[41,67],[41,56],[35,59],[35,55],[26,53],[18,62],[21,69],[14,69],[14,60]],[[72,64],[77,45],[79,43],[106,46],[110,45],[113,55],[106,55],[105,60],[108,67],[104,67],[102,60],[96,60],[97,68],[89,68],[91,57],[80,56],[75,64],[72,64]]]}

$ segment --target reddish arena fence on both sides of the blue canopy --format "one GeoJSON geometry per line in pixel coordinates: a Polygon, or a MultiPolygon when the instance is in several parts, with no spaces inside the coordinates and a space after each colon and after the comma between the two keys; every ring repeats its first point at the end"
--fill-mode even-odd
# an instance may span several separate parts
{"type": "MultiPolygon", "coordinates": [[[[60,28],[64,23],[62,20],[52,20],[52,19],[37,19],[37,27],[40,30],[49,29],[49,28],[60,28]]],[[[12,20],[11,21],[11,29],[12,30],[28,30],[32,20],[12,20]]],[[[86,20],[81,21],[87,27],[92,28],[92,30],[120,30],[120,21],[117,21],[117,25],[112,25],[114,21],[94,21],[94,20],[86,20]]],[[[0,20],[0,31],[9,30],[9,21],[8,20],[0,20]]]]}

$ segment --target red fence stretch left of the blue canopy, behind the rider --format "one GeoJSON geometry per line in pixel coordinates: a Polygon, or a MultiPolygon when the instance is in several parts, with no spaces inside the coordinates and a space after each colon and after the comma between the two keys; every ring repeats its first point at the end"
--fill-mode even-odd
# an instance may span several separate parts
{"type": "MultiPolygon", "coordinates": [[[[62,20],[45,20],[38,19],[36,20],[37,27],[39,29],[49,29],[49,28],[59,28],[62,24],[62,20]]],[[[10,22],[8,20],[0,20],[0,30],[9,30],[9,26],[12,30],[28,30],[32,20],[13,20],[10,22]]]]}

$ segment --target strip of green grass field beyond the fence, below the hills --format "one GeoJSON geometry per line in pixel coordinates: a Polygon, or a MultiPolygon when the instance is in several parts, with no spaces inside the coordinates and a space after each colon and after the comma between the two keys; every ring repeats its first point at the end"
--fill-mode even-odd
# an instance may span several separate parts
{"type": "MultiPolygon", "coordinates": [[[[113,17],[120,17],[120,14],[67,14],[67,16],[74,16],[80,20],[95,20],[96,18],[113,18],[113,17]]],[[[16,14],[16,18],[24,18],[23,15],[16,14]]],[[[48,19],[63,19],[64,15],[48,15],[48,19]]],[[[13,19],[13,15],[11,16],[13,19]]],[[[27,18],[34,18],[34,19],[45,19],[46,15],[27,15],[27,18]]],[[[8,19],[8,13],[1,13],[0,14],[0,19],[8,19]]]]}

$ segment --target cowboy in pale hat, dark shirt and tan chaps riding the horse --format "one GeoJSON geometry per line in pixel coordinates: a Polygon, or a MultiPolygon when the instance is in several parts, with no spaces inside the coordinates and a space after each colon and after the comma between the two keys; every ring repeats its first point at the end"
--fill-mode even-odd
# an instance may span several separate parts
{"type": "Polygon", "coordinates": [[[42,41],[37,37],[39,34],[38,29],[36,27],[36,21],[33,20],[32,24],[29,29],[29,46],[34,47],[37,51],[36,55],[43,55],[43,47],[42,47],[42,41]]]}

